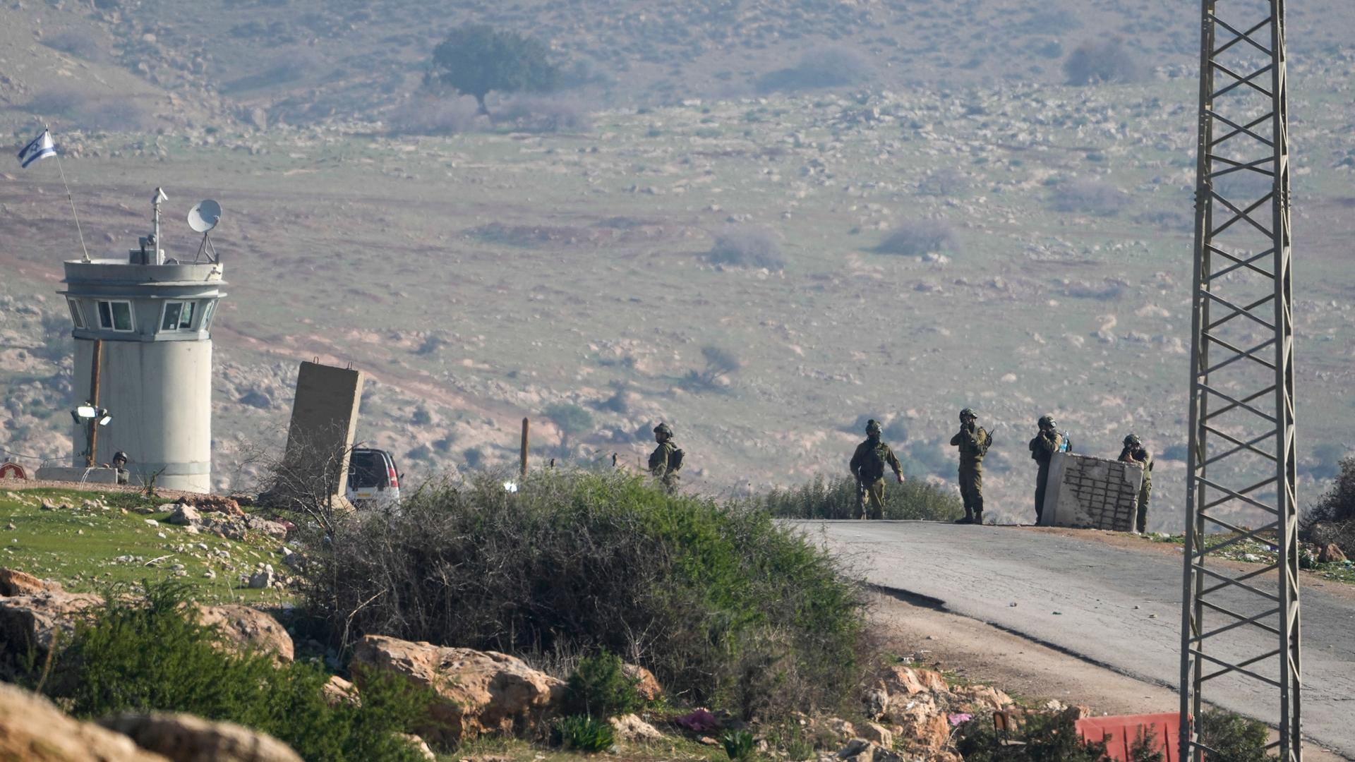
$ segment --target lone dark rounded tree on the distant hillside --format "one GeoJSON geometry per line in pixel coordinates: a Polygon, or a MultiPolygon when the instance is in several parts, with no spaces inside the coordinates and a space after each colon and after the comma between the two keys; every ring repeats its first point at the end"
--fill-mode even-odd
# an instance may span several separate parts
{"type": "Polygon", "coordinates": [[[451,30],[432,50],[432,68],[424,81],[449,85],[473,95],[480,113],[489,115],[489,92],[547,92],[560,83],[560,68],[550,62],[550,49],[530,37],[465,24],[451,30]]]}

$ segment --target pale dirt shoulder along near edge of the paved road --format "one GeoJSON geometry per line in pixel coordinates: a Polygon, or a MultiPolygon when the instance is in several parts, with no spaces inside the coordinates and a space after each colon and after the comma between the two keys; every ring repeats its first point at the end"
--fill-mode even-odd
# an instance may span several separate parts
{"type": "MultiPolygon", "coordinates": [[[[969,682],[1000,687],[1022,702],[1043,704],[1056,698],[1106,715],[1175,712],[1177,708],[1173,686],[1144,682],[977,620],[886,593],[873,594],[871,603],[877,632],[890,652],[912,656],[969,682]]],[[[1304,751],[1309,761],[1351,762],[1312,743],[1305,744],[1304,751]]]]}

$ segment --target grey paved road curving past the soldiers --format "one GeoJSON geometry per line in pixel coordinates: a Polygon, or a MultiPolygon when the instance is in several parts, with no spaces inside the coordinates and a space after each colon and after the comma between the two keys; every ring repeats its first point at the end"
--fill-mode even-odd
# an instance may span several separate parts
{"type": "MultiPolygon", "coordinates": [[[[1179,682],[1179,553],[1018,527],[851,521],[801,526],[852,555],[871,583],[939,599],[957,614],[1140,679],[1179,682]]],[[[1304,731],[1355,758],[1355,595],[1310,586],[1302,590],[1302,603],[1304,731]]],[[[1275,647],[1271,636],[1240,636],[1248,641],[1237,643],[1238,654],[1275,647]]],[[[1205,696],[1268,723],[1279,713],[1274,689],[1253,679],[1220,678],[1206,683],[1205,696]]]]}

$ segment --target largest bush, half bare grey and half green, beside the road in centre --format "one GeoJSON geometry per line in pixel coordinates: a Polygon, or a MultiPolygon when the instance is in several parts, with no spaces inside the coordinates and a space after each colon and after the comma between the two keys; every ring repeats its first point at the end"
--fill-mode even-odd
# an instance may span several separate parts
{"type": "Polygon", "coordinates": [[[860,590],[766,511],[625,472],[541,470],[516,492],[501,481],[428,485],[400,515],[339,526],[308,564],[305,606],[339,644],[381,633],[645,655],[671,693],[740,712],[851,693],[860,590]],[[756,679],[776,690],[741,706],[740,686],[756,679]]]}

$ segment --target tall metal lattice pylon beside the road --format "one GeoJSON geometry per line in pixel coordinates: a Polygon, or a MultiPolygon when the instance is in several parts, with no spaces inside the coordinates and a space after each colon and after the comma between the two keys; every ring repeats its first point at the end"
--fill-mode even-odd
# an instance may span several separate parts
{"type": "Polygon", "coordinates": [[[1211,751],[1186,716],[1237,681],[1278,698],[1272,748],[1299,762],[1285,0],[1202,0],[1201,33],[1180,758],[1211,751]],[[1278,561],[1209,563],[1247,538],[1278,561]]]}

